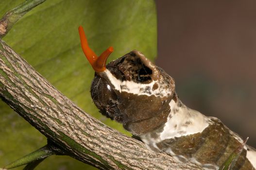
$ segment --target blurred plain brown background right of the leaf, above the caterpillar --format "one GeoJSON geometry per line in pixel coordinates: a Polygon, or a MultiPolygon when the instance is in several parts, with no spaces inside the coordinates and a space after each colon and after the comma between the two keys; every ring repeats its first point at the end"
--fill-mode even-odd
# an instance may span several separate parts
{"type": "Polygon", "coordinates": [[[256,0],[156,0],[158,58],[189,107],[256,147],[256,0]]]}

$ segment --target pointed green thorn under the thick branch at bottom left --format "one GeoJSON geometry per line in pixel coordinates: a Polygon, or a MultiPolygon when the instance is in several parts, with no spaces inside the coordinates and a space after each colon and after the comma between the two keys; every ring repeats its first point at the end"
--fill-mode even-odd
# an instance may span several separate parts
{"type": "MultiPolygon", "coordinates": [[[[54,154],[54,152],[51,150],[51,148],[48,145],[46,145],[46,146],[34,151],[33,153],[29,153],[29,154],[17,159],[16,161],[5,166],[3,169],[9,170],[12,168],[20,167],[22,165],[30,164],[32,162],[37,163],[36,165],[38,165],[43,159],[45,159],[46,157],[48,157],[52,154],[54,154]]],[[[33,164],[31,164],[31,166],[32,165],[33,164]]],[[[27,169],[27,170],[30,170],[30,169],[27,169]]]]}

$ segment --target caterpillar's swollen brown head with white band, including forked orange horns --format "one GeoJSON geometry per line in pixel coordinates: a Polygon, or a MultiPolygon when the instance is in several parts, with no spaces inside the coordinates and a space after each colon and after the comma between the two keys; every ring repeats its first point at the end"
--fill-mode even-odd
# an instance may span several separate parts
{"type": "Polygon", "coordinates": [[[164,124],[174,95],[171,76],[136,50],[105,65],[113,48],[97,57],[89,49],[82,27],[79,33],[82,49],[96,71],[91,97],[100,112],[137,136],[164,124]]]}

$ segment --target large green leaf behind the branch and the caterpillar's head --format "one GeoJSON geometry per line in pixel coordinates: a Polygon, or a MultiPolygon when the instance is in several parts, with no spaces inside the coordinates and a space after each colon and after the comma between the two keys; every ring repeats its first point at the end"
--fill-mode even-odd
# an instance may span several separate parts
{"type": "MultiPolygon", "coordinates": [[[[0,0],[0,15],[23,0],[0,0]]],[[[47,0],[23,16],[4,37],[40,74],[87,113],[125,132],[103,117],[90,98],[94,76],[81,50],[78,26],[100,54],[109,46],[112,61],[134,49],[156,57],[154,0],[47,0]]],[[[46,144],[46,138],[0,102],[0,167],[46,144]]],[[[38,170],[81,170],[87,165],[67,156],[51,156],[38,170]]],[[[18,170],[18,169],[17,169],[18,170]]],[[[19,169],[20,170],[20,169],[19,169]]]]}

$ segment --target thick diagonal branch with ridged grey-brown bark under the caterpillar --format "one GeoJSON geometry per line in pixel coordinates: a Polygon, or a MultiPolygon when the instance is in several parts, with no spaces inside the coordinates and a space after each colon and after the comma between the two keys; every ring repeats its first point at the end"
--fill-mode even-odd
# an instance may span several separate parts
{"type": "Polygon", "coordinates": [[[65,154],[102,170],[198,170],[92,118],[0,40],[0,97],[65,154]]]}

